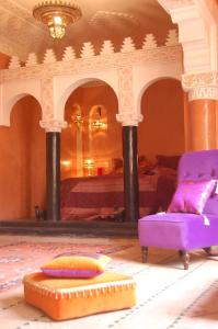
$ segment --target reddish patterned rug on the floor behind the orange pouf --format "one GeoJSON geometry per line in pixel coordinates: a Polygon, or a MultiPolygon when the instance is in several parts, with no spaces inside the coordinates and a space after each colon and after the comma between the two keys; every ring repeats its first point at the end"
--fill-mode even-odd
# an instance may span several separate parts
{"type": "Polygon", "coordinates": [[[18,286],[25,273],[33,272],[54,257],[68,253],[111,254],[131,245],[106,245],[81,242],[30,242],[19,241],[0,247],[0,293],[18,286]]]}

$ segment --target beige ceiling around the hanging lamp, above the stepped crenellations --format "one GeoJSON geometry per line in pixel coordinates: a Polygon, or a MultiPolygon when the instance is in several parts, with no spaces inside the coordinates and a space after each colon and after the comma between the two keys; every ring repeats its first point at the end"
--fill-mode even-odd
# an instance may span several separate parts
{"type": "Polygon", "coordinates": [[[79,55],[82,44],[91,42],[97,54],[104,39],[111,39],[118,50],[124,37],[131,36],[140,47],[145,35],[153,33],[158,44],[163,44],[168,31],[176,29],[157,0],[77,0],[82,19],[68,26],[61,41],[55,41],[47,27],[32,15],[37,3],[35,0],[0,0],[1,53],[18,55],[24,60],[28,53],[42,57],[46,48],[54,48],[60,58],[66,46],[72,46],[79,55]]]}

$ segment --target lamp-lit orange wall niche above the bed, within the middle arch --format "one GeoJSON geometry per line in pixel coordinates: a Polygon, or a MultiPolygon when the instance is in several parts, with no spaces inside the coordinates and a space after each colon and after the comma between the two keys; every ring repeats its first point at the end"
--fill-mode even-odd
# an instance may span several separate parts
{"type": "Polygon", "coordinates": [[[104,81],[83,83],[70,94],[65,106],[68,126],[61,132],[61,179],[113,170],[113,159],[122,158],[117,112],[117,98],[104,81]]]}

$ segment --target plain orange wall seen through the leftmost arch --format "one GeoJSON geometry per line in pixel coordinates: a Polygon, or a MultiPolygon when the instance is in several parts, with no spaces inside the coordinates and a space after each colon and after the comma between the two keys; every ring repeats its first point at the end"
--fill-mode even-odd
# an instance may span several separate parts
{"type": "Polygon", "coordinates": [[[11,127],[0,127],[0,219],[31,218],[45,206],[45,132],[32,97],[19,101],[11,127]]]}

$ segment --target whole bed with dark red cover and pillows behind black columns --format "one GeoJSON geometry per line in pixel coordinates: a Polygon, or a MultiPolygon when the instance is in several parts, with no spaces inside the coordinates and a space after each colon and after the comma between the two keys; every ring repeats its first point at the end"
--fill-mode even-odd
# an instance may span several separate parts
{"type": "MultiPolygon", "coordinates": [[[[165,166],[158,163],[152,170],[139,170],[140,216],[168,207],[175,190],[176,170],[165,166]]],[[[61,220],[122,220],[123,173],[66,179],[61,182],[60,203],[61,220]]]]}

